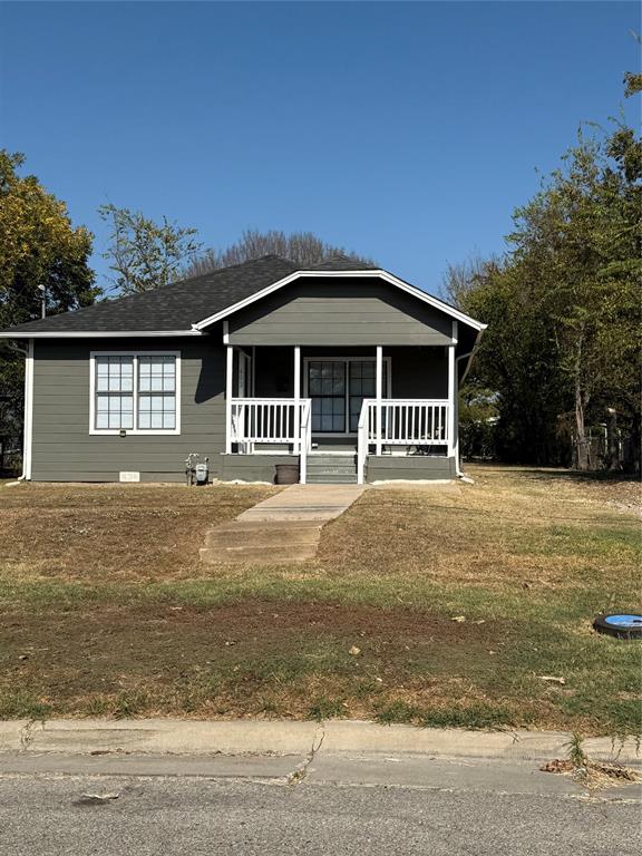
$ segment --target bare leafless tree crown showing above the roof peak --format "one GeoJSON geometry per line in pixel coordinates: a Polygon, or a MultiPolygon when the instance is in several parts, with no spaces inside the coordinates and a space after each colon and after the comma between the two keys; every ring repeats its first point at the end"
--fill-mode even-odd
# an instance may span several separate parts
{"type": "Polygon", "coordinates": [[[200,276],[211,271],[228,268],[232,264],[261,259],[264,255],[280,255],[289,259],[301,268],[311,268],[328,259],[342,255],[356,264],[373,264],[371,259],[366,259],[343,247],[327,244],[312,232],[285,232],[270,230],[245,230],[241,239],[231,244],[226,250],[206,250],[198,259],[195,259],[185,269],[186,276],[200,276]]]}

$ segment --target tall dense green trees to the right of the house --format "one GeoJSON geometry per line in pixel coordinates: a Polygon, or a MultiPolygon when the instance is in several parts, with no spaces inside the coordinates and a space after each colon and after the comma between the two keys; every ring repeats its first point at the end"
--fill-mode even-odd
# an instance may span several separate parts
{"type": "Polygon", "coordinates": [[[642,150],[633,130],[581,138],[514,215],[500,261],[447,285],[489,324],[474,379],[497,391],[506,457],[588,467],[587,427],[615,408],[639,439],[642,150]]]}

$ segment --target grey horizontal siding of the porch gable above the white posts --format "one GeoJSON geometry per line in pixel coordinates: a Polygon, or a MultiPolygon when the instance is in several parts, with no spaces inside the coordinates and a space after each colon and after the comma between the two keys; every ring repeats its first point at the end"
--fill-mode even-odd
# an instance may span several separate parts
{"type": "Polygon", "coordinates": [[[299,280],[228,320],[232,344],[448,344],[444,312],[382,282],[299,280]]]}

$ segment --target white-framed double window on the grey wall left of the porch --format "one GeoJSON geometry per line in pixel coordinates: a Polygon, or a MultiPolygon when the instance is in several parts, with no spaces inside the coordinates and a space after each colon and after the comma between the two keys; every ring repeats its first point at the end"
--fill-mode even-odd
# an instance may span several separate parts
{"type": "Polygon", "coordinates": [[[93,353],[91,434],[178,434],[177,353],[93,353]]]}

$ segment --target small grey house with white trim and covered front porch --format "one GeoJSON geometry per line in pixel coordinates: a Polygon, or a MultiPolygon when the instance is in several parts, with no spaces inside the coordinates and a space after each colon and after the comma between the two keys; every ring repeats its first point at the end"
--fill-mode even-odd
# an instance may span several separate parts
{"type": "Polygon", "coordinates": [[[457,388],[485,325],[338,256],[278,256],[0,332],[26,349],[38,481],[448,479],[457,388]]]}

